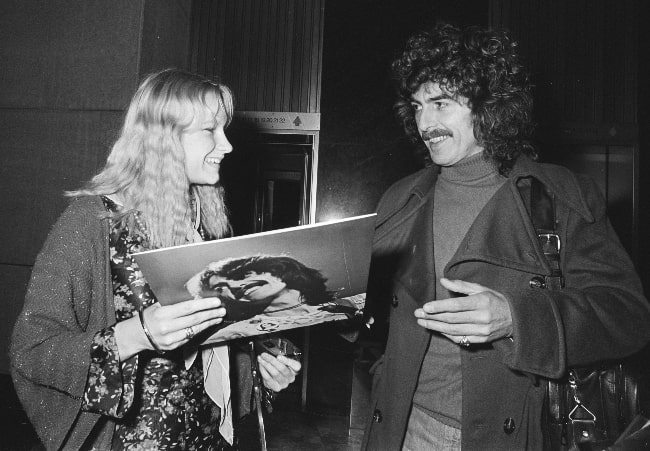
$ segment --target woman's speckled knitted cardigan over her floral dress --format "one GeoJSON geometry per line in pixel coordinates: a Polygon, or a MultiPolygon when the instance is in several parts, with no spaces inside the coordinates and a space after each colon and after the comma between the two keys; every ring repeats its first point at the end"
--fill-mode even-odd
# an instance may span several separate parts
{"type": "MultiPolygon", "coordinates": [[[[36,258],[13,330],[14,386],[47,449],[111,448],[113,420],[81,410],[93,337],[116,321],[105,213],[98,196],[75,199],[63,212],[36,258]]],[[[249,391],[250,380],[242,382],[249,391]]]]}

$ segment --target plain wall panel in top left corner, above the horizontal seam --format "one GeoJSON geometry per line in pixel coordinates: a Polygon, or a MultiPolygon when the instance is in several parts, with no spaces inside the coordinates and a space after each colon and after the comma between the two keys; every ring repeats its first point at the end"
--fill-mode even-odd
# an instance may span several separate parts
{"type": "Polygon", "coordinates": [[[121,109],[137,80],[141,1],[4,1],[0,107],[121,109]]]}

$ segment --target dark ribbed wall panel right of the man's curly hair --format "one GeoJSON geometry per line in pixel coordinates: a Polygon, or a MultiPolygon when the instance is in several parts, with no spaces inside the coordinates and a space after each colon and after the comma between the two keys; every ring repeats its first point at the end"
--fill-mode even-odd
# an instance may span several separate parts
{"type": "Polygon", "coordinates": [[[545,129],[635,124],[638,0],[492,0],[490,19],[512,31],[536,85],[545,129]]]}

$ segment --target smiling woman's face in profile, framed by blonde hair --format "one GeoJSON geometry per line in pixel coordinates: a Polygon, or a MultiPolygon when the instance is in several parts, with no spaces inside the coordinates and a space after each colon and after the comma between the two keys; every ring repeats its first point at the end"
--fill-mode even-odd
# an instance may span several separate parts
{"type": "Polygon", "coordinates": [[[194,120],[180,137],[190,183],[214,185],[219,181],[221,160],[232,152],[225,132],[227,119],[225,108],[213,93],[206,98],[205,106],[195,108],[194,120]]]}

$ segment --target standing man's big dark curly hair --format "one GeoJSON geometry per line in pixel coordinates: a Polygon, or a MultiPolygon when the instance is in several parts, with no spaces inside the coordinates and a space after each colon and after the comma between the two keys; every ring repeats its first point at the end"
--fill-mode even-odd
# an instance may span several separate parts
{"type": "Polygon", "coordinates": [[[506,175],[520,154],[535,159],[529,140],[534,128],[532,84],[516,46],[505,31],[475,26],[439,24],[414,34],[392,64],[395,110],[411,140],[425,150],[411,102],[422,84],[433,82],[452,97],[468,99],[474,136],[500,173],[506,175]]]}

